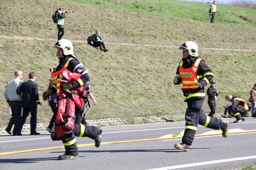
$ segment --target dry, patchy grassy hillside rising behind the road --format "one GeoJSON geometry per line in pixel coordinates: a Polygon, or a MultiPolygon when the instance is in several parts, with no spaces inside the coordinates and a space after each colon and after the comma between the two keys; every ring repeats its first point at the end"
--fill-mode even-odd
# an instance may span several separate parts
{"type": "MultiPolygon", "coordinates": [[[[58,7],[68,11],[65,34],[76,57],[89,70],[98,101],[88,119],[184,114],[181,86],[173,85],[186,41],[199,46],[199,55],[213,70],[220,90],[217,112],[223,112],[226,94],[248,99],[256,83],[255,9],[218,5],[210,24],[209,4],[176,0],[2,0],[0,5],[0,93],[20,69],[23,80],[37,73],[40,100],[38,123],[52,112],[41,94],[47,89],[50,67],[58,64],[57,28],[51,15],[58,7]],[[120,3],[121,2],[121,3],[120,3]],[[193,6],[193,9],[191,7],[193,6]],[[86,39],[101,30],[107,53],[86,39]]],[[[206,87],[208,88],[208,86],[206,87]]],[[[7,125],[9,109],[0,95],[0,125],[7,125]]],[[[209,113],[207,100],[203,106],[209,113]]],[[[29,119],[27,120],[29,122],[29,119]]],[[[132,123],[132,121],[130,121],[132,123]]]]}

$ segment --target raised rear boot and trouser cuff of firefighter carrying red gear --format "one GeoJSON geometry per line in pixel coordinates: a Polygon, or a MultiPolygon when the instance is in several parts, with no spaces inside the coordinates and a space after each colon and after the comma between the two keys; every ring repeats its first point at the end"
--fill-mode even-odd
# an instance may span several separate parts
{"type": "Polygon", "coordinates": [[[99,147],[101,142],[102,128],[96,126],[85,126],[85,137],[89,137],[95,141],[95,146],[99,147]]]}

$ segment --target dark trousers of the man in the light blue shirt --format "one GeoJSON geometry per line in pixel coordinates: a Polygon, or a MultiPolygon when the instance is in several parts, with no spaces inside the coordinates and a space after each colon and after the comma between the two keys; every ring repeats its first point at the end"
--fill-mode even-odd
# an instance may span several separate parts
{"type": "Polygon", "coordinates": [[[9,103],[11,107],[11,118],[8,123],[8,126],[6,127],[6,131],[11,131],[12,126],[14,125],[13,132],[16,132],[17,129],[17,123],[16,121],[20,119],[21,117],[21,101],[10,101],[9,103]]]}

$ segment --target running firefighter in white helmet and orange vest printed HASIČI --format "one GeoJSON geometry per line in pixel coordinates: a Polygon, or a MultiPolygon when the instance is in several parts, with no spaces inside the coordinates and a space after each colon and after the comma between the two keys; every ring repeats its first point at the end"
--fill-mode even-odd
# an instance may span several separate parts
{"type": "Polygon", "coordinates": [[[198,46],[195,42],[188,41],[179,47],[182,50],[182,60],[177,68],[174,85],[182,84],[182,91],[188,108],[185,113],[185,131],[182,143],[176,143],[174,147],[189,151],[198,124],[211,129],[221,129],[222,136],[227,137],[228,121],[206,115],[202,110],[205,98],[204,87],[213,79],[213,72],[203,59],[198,56],[198,46]]]}

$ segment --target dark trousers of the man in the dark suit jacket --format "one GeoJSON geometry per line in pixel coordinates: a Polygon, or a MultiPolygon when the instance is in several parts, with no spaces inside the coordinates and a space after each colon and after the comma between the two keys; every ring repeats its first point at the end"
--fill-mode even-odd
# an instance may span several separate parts
{"type": "Polygon", "coordinates": [[[37,107],[36,108],[22,108],[21,111],[21,117],[19,119],[19,121],[17,121],[17,131],[18,133],[21,133],[22,127],[24,125],[24,123],[26,122],[26,119],[29,115],[29,113],[31,113],[31,119],[30,119],[30,131],[31,132],[36,132],[36,113],[37,112],[37,107]]]}

